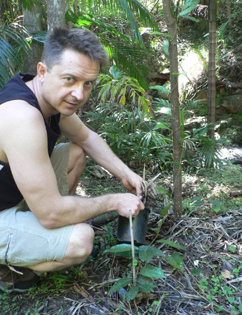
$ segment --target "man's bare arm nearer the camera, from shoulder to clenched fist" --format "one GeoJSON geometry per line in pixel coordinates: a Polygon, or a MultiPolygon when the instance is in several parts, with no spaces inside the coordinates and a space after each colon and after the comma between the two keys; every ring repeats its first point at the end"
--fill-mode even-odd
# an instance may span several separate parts
{"type": "Polygon", "coordinates": [[[15,182],[30,210],[47,228],[86,221],[115,210],[128,216],[143,208],[132,194],[110,194],[95,198],[59,193],[47,153],[47,136],[41,113],[29,104],[12,101],[1,105],[0,147],[8,158],[15,182]],[[12,113],[15,113],[12,115],[12,113]]]}

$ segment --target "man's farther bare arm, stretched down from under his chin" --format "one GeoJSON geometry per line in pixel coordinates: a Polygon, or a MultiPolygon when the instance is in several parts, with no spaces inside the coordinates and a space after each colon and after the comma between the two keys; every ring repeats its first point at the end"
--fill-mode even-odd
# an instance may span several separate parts
{"type": "Polygon", "coordinates": [[[121,179],[123,185],[137,195],[141,195],[140,184],[142,178],[131,171],[118,158],[95,132],[85,126],[76,114],[63,117],[60,123],[61,130],[72,141],[80,145],[83,150],[99,165],[121,179]],[[70,127],[71,126],[71,127],[70,127]]]}

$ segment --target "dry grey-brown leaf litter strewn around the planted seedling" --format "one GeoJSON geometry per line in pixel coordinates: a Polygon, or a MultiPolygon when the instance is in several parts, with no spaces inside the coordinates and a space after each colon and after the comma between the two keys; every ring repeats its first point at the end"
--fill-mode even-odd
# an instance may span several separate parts
{"type": "MultiPolygon", "coordinates": [[[[102,183],[104,181],[107,179],[102,179],[102,183]]],[[[108,181],[110,185],[110,179],[108,181]]],[[[115,179],[111,182],[116,183],[115,179]]],[[[239,307],[242,303],[242,209],[228,209],[224,214],[216,214],[207,212],[204,205],[192,213],[185,213],[181,218],[168,213],[154,240],[156,233],[152,228],[162,219],[160,210],[163,207],[163,201],[157,201],[157,198],[153,204],[149,204],[152,211],[146,245],[152,244],[164,252],[164,256],[153,257],[150,263],[161,268],[166,278],[153,280],[153,292],[139,292],[129,302],[121,292],[108,295],[112,285],[122,277],[126,275],[132,278],[131,267],[128,266],[130,258],[105,252],[115,245],[108,243],[115,240],[107,240],[108,229],[111,229],[113,238],[116,237],[117,221],[114,220],[109,223],[109,227],[93,226],[95,244],[99,248],[95,258],[82,265],[55,272],[57,275],[62,272],[69,277],[69,281],[62,285],[58,286],[57,280],[51,280],[48,276],[43,277],[40,287],[31,290],[31,299],[30,293],[21,295],[25,303],[19,305],[15,314],[28,314],[24,312],[31,309],[38,315],[231,314],[231,306],[239,307]],[[229,251],[229,246],[234,246],[235,251],[229,251]],[[174,267],[168,262],[166,257],[172,257],[174,253],[182,257],[182,268],[181,265],[180,268],[174,267]],[[234,270],[238,270],[237,273],[234,270]],[[221,284],[228,287],[227,294],[233,294],[214,294],[211,302],[211,279],[217,279],[220,275],[223,277],[220,278],[221,284]],[[199,283],[201,279],[208,283],[204,291],[199,283]],[[40,305],[38,309],[35,307],[36,301],[40,305]],[[218,313],[221,305],[223,309],[218,313]]],[[[159,195],[159,198],[164,196],[159,195]]],[[[140,267],[143,266],[141,262],[140,267]]],[[[131,287],[131,284],[128,286],[131,287]]],[[[125,289],[123,291],[125,293],[125,289]]],[[[236,308],[233,314],[241,313],[236,308]]]]}

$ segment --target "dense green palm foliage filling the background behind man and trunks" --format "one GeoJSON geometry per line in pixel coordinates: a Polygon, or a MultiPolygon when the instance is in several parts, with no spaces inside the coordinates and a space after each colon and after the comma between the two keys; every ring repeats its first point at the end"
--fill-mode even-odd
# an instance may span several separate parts
{"type": "MultiPolygon", "coordinates": [[[[0,86],[15,72],[22,70],[22,57],[29,51],[31,43],[43,43],[46,36],[45,1],[22,0],[20,3],[24,8],[33,11],[33,5],[42,6],[43,31],[27,34],[21,18],[18,18],[22,14],[21,6],[14,0],[2,1],[0,86]]],[[[207,71],[208,39],[206,13],[204,14],[206,5],[197,4],[198,1],[195,1],[194,10],[189,15],[186,14],[187,8],[184,5],[180,11],[173,6],[175,15],[185,17],[179,20],[179,62],[191,50],[199,55],[205,67],[205,72],[198,76],[196,86],[190,80],[184,83],[185,87],[180,94],[183,102],[180,114],[182,160],[184,166],[193,169],[209,167],[213,162],[218,164],[218,150],[221,146],[219,142],[223,142],[219,139],[208,140],[206,124],[192,129],[186,127],[186,120],[206,114],[206,106],[195,97],[199,92],[199,84],[200,87],[206,87],[204,74],[207,71]],[[198,19],[199,23],[196,23],[195,20],[198,19]],[[199,33],[198,37],[196,31],[199,33]]],[[[238,81],[242,59],[242,8],[237,0],[232,1],[232,6],[231,16],[227,16],[226,1],[222,1],[218,11],[216,72],[218,77],[238,81]],[[234,22],[229,24],[231,18],[234,22]]],[[[136,0],[72,0],[69,7],[66,19],[73,27],[86,27],[94,31],[110,58],[109,66],[102,69],[103,74],[93,91],[91,101],[80,113],[83,119],[101,132],[113,150],[126,162],[134,162],[131,165],[146,163],[151,166],[151,170],[157,167],[169,169],[172,165],[167,50],[169,38],[161,3],[156,1],[154,6],[149,1],[136,0]],[[116,74],[112,71],[109,73],[109,67],[113,65],[117,66],[116,74]],[[119,71],[120,76],[115,78],[119,71]],[[151,90],[154,84],[162,89],[151,90]]],[[[180,77],[185,78],[185,70],[181,72],[184,75],[180,77]]],[[[232,91],[228,89],[223,93],[230,94],[232,91]]]]}

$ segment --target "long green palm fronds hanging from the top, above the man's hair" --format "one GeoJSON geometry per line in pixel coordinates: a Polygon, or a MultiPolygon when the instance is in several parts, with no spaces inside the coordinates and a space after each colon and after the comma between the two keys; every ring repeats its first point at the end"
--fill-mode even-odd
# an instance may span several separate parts
{"type": "Polygon", "coordinates": [[[99,0],[83,1],[80,11],[69,10],[66,19],[76,27],[88,27],[96,32],[106,47],[112,65],[119,66],[128,76],[138,80],[143,88],[147,88],[149,69],[144,61],[147,58],[146,47],[139,32],[139,26],[150,27],[158,31],[156,21],[149,11],[137,0],[99,0]],[[116,16],[113,27],[107,25],[109,18],[116,16]],[[118,18],[117,16],[121,16],[118,18]],[[125,29],[124,35],[118,22],[128,21],[130,31],[125,29]],[[139,21],[139,22],[137,22],[139,21]]]}

